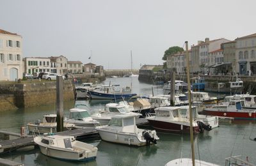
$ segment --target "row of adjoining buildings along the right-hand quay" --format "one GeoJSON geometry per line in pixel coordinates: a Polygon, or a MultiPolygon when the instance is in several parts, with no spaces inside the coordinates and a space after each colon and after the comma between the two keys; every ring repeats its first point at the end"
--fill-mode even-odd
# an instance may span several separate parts
{"type": "MultiPolygon", "coordinates": [[[[217,40],[198,41],[189,50],[191,73],[210,72],[212,74],[248,75],[256,73],[256,33],[237,38],[234,41],[220,38],[217,40]]],[[[175,68],[178,73],[185,72],[185,53],[167,57],[168,70],[175,68]]]]}

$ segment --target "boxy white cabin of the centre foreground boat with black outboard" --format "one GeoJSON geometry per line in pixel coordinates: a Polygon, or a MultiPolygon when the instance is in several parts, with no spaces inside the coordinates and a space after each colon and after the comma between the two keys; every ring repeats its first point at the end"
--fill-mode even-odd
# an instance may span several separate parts
{"type": "Polygon", "coordinates": [[[137,130],[136,126],[136,116],[131,115],[118,115],[111,117],[111,120],[108,123],[108,126],[111,127],[120,127],[122,132],[134,133],[137,130]]]}

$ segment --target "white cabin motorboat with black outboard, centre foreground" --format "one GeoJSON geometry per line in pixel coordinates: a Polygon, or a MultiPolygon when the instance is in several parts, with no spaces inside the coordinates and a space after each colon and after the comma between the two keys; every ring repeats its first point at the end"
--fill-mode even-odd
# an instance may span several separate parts
{"type": "Polygon", "coordinates": [[[150,143],[156,144],[159,137],[155,130],[143,130],[136,126],[136,116],[118,115],[113,116],[108,125],[97,126],[102,140],[132,146],[145,146],[150,143]]]}

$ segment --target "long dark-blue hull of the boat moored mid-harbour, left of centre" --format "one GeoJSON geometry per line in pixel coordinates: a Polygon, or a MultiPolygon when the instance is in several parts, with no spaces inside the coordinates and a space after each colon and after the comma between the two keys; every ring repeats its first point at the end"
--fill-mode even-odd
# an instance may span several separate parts
{"type": "Polygon", "coordinates": [[[108,93],[99,93],[95,91],[89,91],[90,96],[92,99],[123,99],[123,98],[131,98],[132,96],[136,96],[136,93],[129,93],[129,94],[108,94],[108,93]]]}

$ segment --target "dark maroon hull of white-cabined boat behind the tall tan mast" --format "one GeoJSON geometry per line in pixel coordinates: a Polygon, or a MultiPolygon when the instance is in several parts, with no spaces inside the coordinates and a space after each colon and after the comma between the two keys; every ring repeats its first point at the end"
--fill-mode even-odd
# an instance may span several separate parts
{"type": "MultiPolygon", "coordinates": [[[[157,121],[153,119],[148,119],[148,122],[151,126],[153,126],[157,131],[164,133],[190,133],[190,126],[179,124],[179,123],[171,123],[165,121],[157,121]]],[[[200,133],[198,126],[193,126],[194,133],[200,133]]]]}

